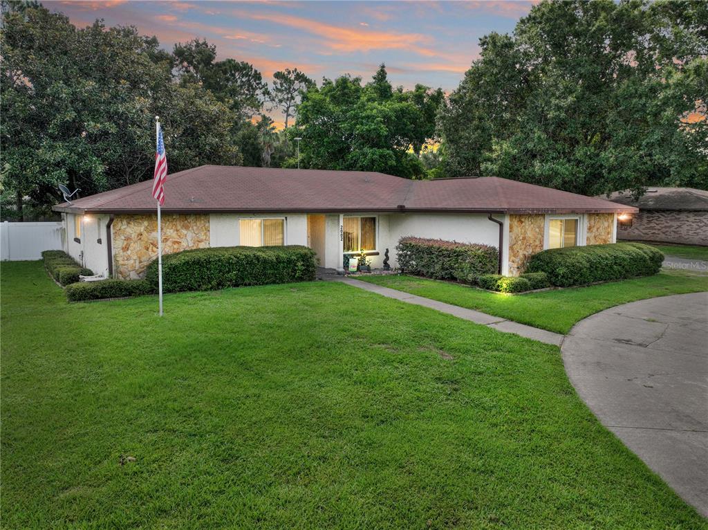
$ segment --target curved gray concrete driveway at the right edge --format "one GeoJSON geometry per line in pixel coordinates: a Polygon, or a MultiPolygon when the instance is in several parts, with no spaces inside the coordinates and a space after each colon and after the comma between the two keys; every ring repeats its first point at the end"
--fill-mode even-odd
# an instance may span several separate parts
{"type": "Polygon", "coordinates": [[[708,517],[708,293],[599,312],[561,351],[600,422],[708,517]]]}

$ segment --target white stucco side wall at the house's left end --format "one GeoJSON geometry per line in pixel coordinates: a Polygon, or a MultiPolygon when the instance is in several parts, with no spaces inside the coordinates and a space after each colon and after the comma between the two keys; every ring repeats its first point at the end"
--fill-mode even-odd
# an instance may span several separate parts
{"type": "Polygon", "coordinates": [[[64,230],[67,234],[66,248],[79,264],[91,269],[93,274],[108,276],[108,242],[106,239],[105,225],[108,215],[74,215],[67,213],[64,216],[64,230]],[[76,242],[74,222],[81,223],[81,242],[76,242]],[[98,242],[101,239],[101,243],[98,242]]]}

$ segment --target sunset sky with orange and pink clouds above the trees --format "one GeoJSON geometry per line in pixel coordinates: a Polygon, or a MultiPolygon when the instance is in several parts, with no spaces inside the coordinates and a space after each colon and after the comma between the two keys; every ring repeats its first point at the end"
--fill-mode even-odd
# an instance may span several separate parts
{"type": "Polygon", "coordinates": [[[368,81],[379,64],[406,89],[457,88],[479,38],[510,33],[531,1],[43,1],[83,27],[135,26],[162,47],[205,38],[217,59],[251,62],[266,81],[297,67],[318,84],[342,74],[368,81]]]}

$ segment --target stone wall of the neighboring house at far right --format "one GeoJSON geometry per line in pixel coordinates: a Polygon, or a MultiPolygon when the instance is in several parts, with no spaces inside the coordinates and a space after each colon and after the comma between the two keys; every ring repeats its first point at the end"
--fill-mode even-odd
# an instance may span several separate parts
{"type": "Polygon", "coordinates": [[[617,239],[708,245],[708,212],[643,210],[631,225],[617,222],[617,239]]]}

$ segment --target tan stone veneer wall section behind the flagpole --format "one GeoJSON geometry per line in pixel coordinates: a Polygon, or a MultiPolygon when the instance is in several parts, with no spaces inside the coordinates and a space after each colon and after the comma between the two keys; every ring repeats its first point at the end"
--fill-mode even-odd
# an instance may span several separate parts
{"type": "MultiPolygon", "coordinates": [[[[116,215],[113,272],[123,280],[142,278],[157,257],[157,215],[116,215]]],[[[209,215],[162,215],[162,254],[209,247],[209,215]]]]}

